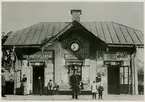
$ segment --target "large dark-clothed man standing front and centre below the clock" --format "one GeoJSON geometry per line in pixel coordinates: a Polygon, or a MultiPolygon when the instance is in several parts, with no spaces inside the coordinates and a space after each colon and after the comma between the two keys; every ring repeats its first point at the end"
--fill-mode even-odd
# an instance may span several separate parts
{"type": "Polygon", "coordinates": [[[78,75],[76,75],[75,70],[73,72],[73,75],[70,77],[70,86],[72,89],[72,99],[78,99],[78,94],[79,94],[79,85],[80,85],[80,80],[78,75]]]}

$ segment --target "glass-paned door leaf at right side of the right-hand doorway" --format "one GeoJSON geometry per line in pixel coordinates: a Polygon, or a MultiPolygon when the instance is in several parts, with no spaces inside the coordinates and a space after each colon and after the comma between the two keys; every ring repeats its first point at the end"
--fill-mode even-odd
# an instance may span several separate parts
{"type": "Polygon", "coordinates": [[[120,93],[129,94],[131,73],[128,66],[120,67],[120,93]]]}

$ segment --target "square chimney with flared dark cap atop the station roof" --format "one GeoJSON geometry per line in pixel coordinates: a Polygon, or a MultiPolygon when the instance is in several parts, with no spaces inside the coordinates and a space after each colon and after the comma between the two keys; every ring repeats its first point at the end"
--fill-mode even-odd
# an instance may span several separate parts
{"type": "Polygon", "coordinates": [[[81,14],[82,14],[81,10],[78,10],[78,9],[71,10],[72,21],[76,20],[76,21],[80,22],[80,15],[81,14]]]}

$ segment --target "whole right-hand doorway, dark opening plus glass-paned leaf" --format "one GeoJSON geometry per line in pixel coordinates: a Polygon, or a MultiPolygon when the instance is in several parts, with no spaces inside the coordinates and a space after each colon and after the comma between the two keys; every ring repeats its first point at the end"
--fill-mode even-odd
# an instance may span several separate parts
{"type": "Polygon", "coordinates": [[[130,94],[131,90],[131,71],[129,66],[109,66],[108,93],[130,94]]]}

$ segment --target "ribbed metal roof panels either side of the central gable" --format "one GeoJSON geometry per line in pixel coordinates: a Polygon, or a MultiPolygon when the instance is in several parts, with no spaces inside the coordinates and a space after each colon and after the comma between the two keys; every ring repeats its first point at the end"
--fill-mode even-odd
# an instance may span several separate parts
{"type": "MultiPolygon", "coordinates": [[[[4,45],[42,45],[71,22],[40,22],[10,34],[4,45]]],[[[115,22],[81,22],[88,31],[107,44],[143,44],[141,31],[115,22]]]]}

